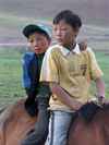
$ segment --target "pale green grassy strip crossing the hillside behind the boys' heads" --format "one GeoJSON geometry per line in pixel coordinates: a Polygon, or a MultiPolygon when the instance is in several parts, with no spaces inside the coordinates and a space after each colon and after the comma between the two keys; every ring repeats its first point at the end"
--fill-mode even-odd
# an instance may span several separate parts
{"type": "MultiPolygon", "coordinates": [[[[10,14],[10,13],[2,13],[0,12],[0,25],[4,26],[4,24],[7,24],[7,27],[10,27],[11,25],[17,27],[24,27],[27,24],[44,24],[47,25],[49,29],[52,29],[52,19],[50,19],[48,16],[47,17],[35,17],[35,16],[23,16],[23,15],[17,15],[17,14],[10,14]]],[[[88,28],[88,29],[93,29],[93,31],[100,31],[100,32],[109,32],[108,27],[100,27],[100,26],[96,26],[96,25],[87,25],[87,24],[83,24],[82,26],[83,28],[88,28]]]]}

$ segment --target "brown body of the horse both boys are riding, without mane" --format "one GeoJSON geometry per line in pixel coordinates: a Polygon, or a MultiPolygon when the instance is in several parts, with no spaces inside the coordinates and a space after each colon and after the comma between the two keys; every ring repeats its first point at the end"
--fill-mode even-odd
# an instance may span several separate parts
{"type": "MultiPolygon", "coordinates": [[[[0,145],[20,145],[36,124],[37,116],[28,116],[24,101],[25,98],[20,99],[0,113],[0,145]]],[[[77,113],[69,131],[68,145],[109,145],[109,106],[99,108],[89,121],[77,113]]]]}

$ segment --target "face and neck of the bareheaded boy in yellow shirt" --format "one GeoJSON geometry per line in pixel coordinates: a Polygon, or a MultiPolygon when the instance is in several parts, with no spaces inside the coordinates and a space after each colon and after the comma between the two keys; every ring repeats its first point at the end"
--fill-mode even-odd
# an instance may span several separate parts
{"type": "Polygon", "coordinates": [[[73,29],[70,24],[61,20],[58,24],[53,25],[53,36],[59,46],[63,46],[72,50],[75,46],[75,37],[80,28],[73,29]]]}

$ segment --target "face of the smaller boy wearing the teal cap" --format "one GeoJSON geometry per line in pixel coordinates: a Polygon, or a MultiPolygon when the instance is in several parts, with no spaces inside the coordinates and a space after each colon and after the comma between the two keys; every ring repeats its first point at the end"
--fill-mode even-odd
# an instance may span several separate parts
{"type": "Polygon", "coordinates": [[[34,33],[28,36],[28,43],[33,52],[41,55],[48,49],[51,38],[47,39],[43,34],[34,33]]]}

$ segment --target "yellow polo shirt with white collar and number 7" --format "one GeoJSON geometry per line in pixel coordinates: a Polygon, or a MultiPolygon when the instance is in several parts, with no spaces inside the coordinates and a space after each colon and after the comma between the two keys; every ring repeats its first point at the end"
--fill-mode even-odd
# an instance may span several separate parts
{"type": "MultiPolygon", "coordinates": [[[[50,47],[41,67],[40,82],[58,83],[65,93],[81,105],[89,101],[90,81],[102,76],[93,51],[87,48],[80,51],[78,45],[72,51],[56,45],[50,47]]],[[[50,107],[73,110],[55,94],[50,97],[50,107]]]]}

